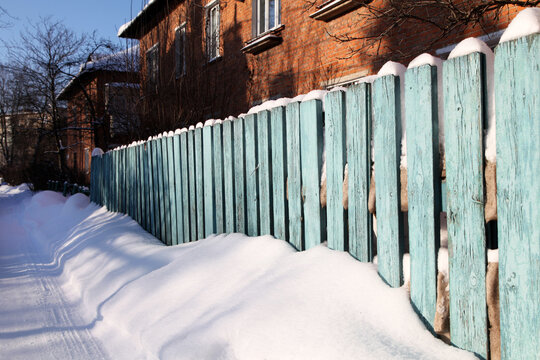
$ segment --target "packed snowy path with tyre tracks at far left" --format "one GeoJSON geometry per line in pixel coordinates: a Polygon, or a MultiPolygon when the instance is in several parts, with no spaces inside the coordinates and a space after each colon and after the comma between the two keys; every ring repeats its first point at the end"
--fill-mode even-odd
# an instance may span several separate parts
{"type": "Polygon", "coordinates": [[[108,358],[22,223],[17,205],[29,197],[0,195],[0,358],[108,358]]]}

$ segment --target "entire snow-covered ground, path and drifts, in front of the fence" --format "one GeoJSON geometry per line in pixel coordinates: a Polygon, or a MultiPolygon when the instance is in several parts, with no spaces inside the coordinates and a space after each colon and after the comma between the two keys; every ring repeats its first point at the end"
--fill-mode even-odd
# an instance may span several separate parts
{"type": "Polygon", "coordinates": [[[346,253],[165,247],[82,194],[24,186],[0,186],[0,294],[5,359],[474,359],[346,253]]]}

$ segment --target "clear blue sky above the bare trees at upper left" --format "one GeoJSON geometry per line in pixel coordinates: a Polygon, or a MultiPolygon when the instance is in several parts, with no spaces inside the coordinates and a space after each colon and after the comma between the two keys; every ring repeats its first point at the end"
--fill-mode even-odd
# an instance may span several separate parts
{"type": "MultiPolygon", "coordinates": [[[[117,42],[116,33],[122,24],[131,20],[142,8],[144,0],[2,0],[3,7],[13,18],[8,29],[0,29],[0,39],[16,39],[28,21],[53,16],[62,20],[76,33],[97,31],[98,37],[117,42]]],[[[0,57],[5,49],[0,44],[0,57]]]]}

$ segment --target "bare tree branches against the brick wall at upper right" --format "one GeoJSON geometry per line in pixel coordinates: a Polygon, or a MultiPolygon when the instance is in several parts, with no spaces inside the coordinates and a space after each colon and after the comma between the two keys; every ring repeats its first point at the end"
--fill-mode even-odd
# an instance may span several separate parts
{"type": "MultiPolygon", "coordinates": [[[[316,0],[304,0],[306,9],[316,6],[316,0]]],[[[485,33],[496,24],[509,6],[537,7],[540,0],[383,0],[359,1],[358,25],[347,32],[327,31],[339,43],[349,46],[350,56],[358,53],[378,56],[392,53],[397,59],[433,48],[441,40],[473,26],[485,33]],[[403,29],[421,26],[425,34],[422,44],[404,46],[403,29]],[[401,39],[390,41],[388,39],[401,39]],[[373,51],[375,50],[375,51],[373,51]]],[[[409,45],[409,44],[407,44],[409,45]]]]}

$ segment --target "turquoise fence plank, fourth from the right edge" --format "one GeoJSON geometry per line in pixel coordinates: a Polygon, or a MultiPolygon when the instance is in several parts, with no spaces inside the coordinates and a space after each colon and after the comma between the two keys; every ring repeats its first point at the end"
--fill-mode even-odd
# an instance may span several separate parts
{"type": "Polygon", "coordinates": [[[403,284],[404,230],[400,213],[399,160],[401,110],[399,77],[388,75],[373,84],[373,151],[377,204],[379,275],[392,287],[403,284]]]}

